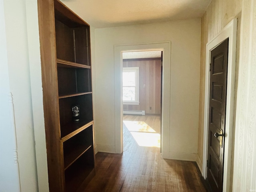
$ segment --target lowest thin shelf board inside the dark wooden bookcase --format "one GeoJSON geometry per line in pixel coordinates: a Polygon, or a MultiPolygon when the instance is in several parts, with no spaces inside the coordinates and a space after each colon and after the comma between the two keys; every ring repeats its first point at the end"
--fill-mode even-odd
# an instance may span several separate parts
{"type": "Polygon", "coordinates": [[[64,167],[65,170],[72,165],[82,154],[84,154],[88,149],[90,149],[92,145],[88,146],[82,146],[80,148],[74,148],[72,152],[70,152],[68,155],[64,156],[64,167]]]}

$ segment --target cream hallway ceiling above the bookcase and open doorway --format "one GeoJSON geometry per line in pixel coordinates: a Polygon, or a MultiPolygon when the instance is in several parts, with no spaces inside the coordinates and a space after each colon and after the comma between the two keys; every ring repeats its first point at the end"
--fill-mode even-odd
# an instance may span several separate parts
{"type": "Polygon", "coordinates": [[[62,0],[94,28],[200,18],[211,0],[62,0]]]}

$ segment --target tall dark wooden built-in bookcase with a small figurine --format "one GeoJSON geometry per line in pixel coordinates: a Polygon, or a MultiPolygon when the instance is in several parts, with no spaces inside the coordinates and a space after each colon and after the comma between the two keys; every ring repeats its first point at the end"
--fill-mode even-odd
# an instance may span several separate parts
{"type": "Polygon", "coordinates": [[[50,192],[75,192],[95,174],[90,26],[59,0],[38,0],[38,18],[50,192]]]}

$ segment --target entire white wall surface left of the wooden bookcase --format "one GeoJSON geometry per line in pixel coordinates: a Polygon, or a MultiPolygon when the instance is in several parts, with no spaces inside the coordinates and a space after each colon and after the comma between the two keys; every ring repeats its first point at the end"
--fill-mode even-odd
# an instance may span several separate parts
{"type": "Polygon", "coordinates": [[[0,22],[1,26],[4,26],[1,27],[0,191],[16,192],[19,188],[22,192],[38,191],[37,172],[41,177],[39,183],[44,186],[44,190],[41,191],[47,191],[37,1],[1,0],[0,7],[0,22]],[[10,97],[7,98],[9,92],[13,96],[14,118],[9,115],[9,111],[12,111],[12,104],[8,102],[10,97]],[[36,129],[42,133],[40,136],[37,133],[37,139],[40,137],[42,142],[35,140],[36,129]],[[15,151],[13,151],[16,142],[18,173],[13,170],[17,165],[15,151]],[[40,149],[37,153],[39,154],[37,163],[35,144],[40,149]],[[38,165],[38,171],[36,165],[38,165]],[[17,174],[20,175],[20,182],[16,179],[17,174]]]}

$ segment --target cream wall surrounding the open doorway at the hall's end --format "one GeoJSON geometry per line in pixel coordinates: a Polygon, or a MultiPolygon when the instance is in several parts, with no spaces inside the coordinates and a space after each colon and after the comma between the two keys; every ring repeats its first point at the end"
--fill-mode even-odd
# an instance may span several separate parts
{"type": "Polygon", "coordinates": [[[200,25],[200,19],[194,19],[95,29],[93,91],[98,151],[115,152],[116,148],[114,45],[171,41],[169,157],[196,160],[200,25]]]}

